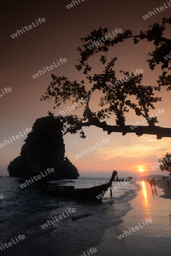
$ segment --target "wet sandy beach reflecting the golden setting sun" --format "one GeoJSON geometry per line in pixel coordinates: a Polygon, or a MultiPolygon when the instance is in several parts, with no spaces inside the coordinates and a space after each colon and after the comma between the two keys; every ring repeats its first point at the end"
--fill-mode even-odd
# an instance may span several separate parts
{"type": "MultiPolygon", "coordinates": [[[[168,189],[166,180],[157,180],[156,188],[151,188],[146,181],[138,184],[141,189],[130,201],[132,209],[122,217],[123,222],[106,229],[102,243],[92,247],[97,249],[96,256],[170,256],[171,185],[168,189]],[[151,223],[147,221],[149,219],[151,223]],[[135,230],[135,226],[139,229],[135,230]],[[132,233],[131,228],[134,230],[132,233]],[[124,237],[119,239],[120,234],[124,237]]],[[[115,210],[115,205],[113,208],[115,210]]],[[[88,254],[85,251],[79,255],[88,254]]]]}

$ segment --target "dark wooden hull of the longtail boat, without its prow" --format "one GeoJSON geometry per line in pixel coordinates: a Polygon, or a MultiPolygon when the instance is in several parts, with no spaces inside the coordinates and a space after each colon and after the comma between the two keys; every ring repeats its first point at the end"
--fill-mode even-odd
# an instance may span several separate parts
{"type": "Polygon", "coordinates": [[[101,200],[109,187],[110,187],[110,184],[106,183],[106,184],[98,185],[96,187],[91,187],[91,188],[76,188],[73,190],[63,190],[63,191],[41,189],[41,192],[47,195],[53,195],[56,197],[72,197],[72,198],[84,199],[84,200],[86,199],[101,200]],[[101,194],[103,195],[102,197],[99,196],[101,194]]]}

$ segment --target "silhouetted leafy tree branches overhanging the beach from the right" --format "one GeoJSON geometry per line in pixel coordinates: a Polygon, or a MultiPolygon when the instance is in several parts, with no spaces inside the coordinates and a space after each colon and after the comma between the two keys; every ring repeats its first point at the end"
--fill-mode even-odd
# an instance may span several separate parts
{"type": "MultiPolygon", "coordinates": [[[[131,129],[130,125],[126,125],[126,114],[130,110],[134,110],[135,115],[148,120],[149,111],[155,109],[155,104],[161,101],[161,97],[155,96],[156,91],[160,92],[162,86],[166,86],[166,90],[171,89],[171,76],[168,75],[171,59],[164,59],[164,56],[168,54],[171,48],[171,40],[163,36],[166,26],[170,24],[171,18],[162,18],[161,23],[149,26],[147,31],[140,31],[138,35],[134,35],[131,30],[126,30],[122,34],[118,34],[114,39],[105,40],[105,42],[94,45],[91,48],[88,46],[94,41],[99,38],[105,38],[108,29],[100,27],[98,30],[91,31],[90,35],[85,38],[81,38],[82,46],[77,48],[80,52],[80,59],[78,59],[78,64],[75,67],[84,74],[86,82],[92,84],[91,88],[86,89],[85,80],[80,82],[77,80],[69,81],[67,77],[52,75],[52,82],[40,100],[49,101],[53,98],[55,109],[60,106],[61,102],[78,102],[81,98],[87,98],[90,102],[92,94],[98,90],[103,93],[103,97],[99,101],[96,112],[91,111],[90,104],[87,102],[82,117],[77,115],[60,116],[59,119],[63,123],[64,134],[68,132],[75,134],[80,131],[80,137],[85,138],[83,127],[93,125],[103,129],[103,131],[107,131],[108,134],[112,132],[122,133],[122,135],[135,133],[138,136],[154,134],[157,135],[157,139],[171,137],[170,128],[155,125],[158,122],[157,117],[149,120],[147,126],[138,126],[134,130],[131,129]],[[114,84],[119,79],[115,73],[117,57],[109,57],[109,50],[111,47],[116,47],[116,44],[130,38],[133,39],[134,44],[139,43],[141,40],[153,43],[155,49],[148,53],[151,58],[147,61],[151,70],[155,69],[156,65],[161,65],[159,80],[157,80],[155,86],[145,86],[142,84],[143,75],[139,75],[124,81],[122,85],[110,89],[109,85],[114,84]],[[99,57],[103,68],[102,73],[93,73],[93,67],[89,64],[89,60],[95,55],[99,57]],[[107,124],[107,119],[109,118],[114,120],[115,125],[107,124]]],[[[127,71],[120,72],[124,76],[128,76],[130,73],[127,71]]],[[[49,111],[49,115],[53,114],[49,111]]]]}

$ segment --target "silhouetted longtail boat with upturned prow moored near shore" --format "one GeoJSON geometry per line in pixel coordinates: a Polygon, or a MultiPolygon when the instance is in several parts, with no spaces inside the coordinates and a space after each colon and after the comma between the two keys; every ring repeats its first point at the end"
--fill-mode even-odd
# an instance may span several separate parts
{"type": "MultiPolygon", "coordinates": [[[[112,187],[112,181],[118,179],[118,172],[113,171],[111,179],[102,185],[91,188],[74,188],[75,181],[72,180],[47,180],[41,184],[40,191],[56,197],[72,197],[76,199],[96,199],[101,200],[109,187],[112,187]],[[69,185],[68,185],[69,184],[69,185]],[[103,195],[99,199],[99,195],[103,195]]],[[[110,189],[112,197],[112,190],[110,189]]]]}

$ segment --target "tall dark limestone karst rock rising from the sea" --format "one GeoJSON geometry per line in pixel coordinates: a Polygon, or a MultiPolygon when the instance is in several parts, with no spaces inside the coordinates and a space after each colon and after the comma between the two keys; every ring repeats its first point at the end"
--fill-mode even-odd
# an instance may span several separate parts
{"type": "Polygon", "coordinates": [[[36,119],[31,133],[24,140],[20,156],[8,166],[9,175],[28,177],[54,168],[59,179],[77,179],[80,176],[77,168],[65,158],[61,128],[59,119],[52,116],[36,119]]]}

